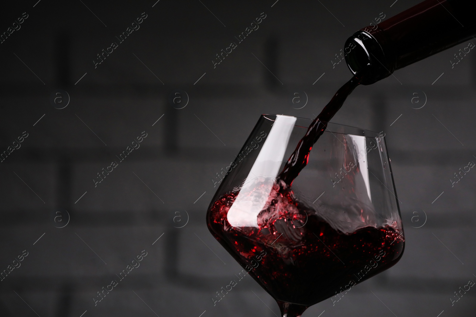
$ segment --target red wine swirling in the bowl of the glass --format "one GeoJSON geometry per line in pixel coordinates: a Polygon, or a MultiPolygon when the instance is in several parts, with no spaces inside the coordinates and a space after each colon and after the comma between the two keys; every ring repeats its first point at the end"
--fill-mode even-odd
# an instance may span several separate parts
{"type": "Polygon", "coordinates": [[[208,228],[238,263],[254,268],[249,274],[281,309],[292,303],[304,311],[388,269],[402,255],[404,239],[396,223],[341,232],[298,202],[289,187],[274,186],[258,227],[232,226],[227,213],[236,196],[225,194],[211,205],[208,228]],[[257,254],[265,254],[258,266],[257,254]]]}

